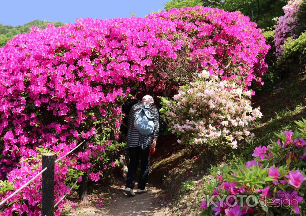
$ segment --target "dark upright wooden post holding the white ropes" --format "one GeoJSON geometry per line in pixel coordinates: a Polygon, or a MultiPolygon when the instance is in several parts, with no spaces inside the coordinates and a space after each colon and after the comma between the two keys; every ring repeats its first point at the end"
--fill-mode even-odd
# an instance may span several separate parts
{"type": "Polygon", "coordinates": [[[42,216],[54,215],[54,160],[55,155],[46,153],[43,154],[42,169],[47,167],[42,174],[41,188],[41,213],[42,216]]]}

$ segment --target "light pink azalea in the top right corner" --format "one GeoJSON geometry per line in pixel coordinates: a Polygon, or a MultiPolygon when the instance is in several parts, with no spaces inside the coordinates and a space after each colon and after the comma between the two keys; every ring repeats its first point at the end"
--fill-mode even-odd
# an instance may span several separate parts
{"type": "Polygon", "coordinates": [[[295,38],[299,36],[294,35],[292,31],[296,25],[294,15],[299,10],[301,2],[302,0],[289,0],[288,4],[283,7],[285,15],[280,16],[277,20],[274,30],[275,54],[277,57],[284,51],[281,45],[284,44],[286,38],[295,38]]]}

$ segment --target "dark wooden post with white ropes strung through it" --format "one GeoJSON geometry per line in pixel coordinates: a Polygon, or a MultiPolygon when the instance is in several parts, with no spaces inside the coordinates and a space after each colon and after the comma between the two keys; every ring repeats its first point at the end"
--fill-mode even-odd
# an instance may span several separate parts
{"type": "MultiPolygon", "coordinates": [[[[85,141],[85,140],[84,140],[85,141]]],[[[39,177],[39,175],[42,174],[42,215],[49,216],[54,215],[54,208],[58,206],[58,204],[65,199],[67,196],[67,193],[61,197],[60,200],[54,205],[54,164],[58,163],[61,159],[69,155],[71,152],[73,152],[76,148],[80,147],[84,143],[82,141],[79,145],[77,145],[75,148],[73,148],[71,151],[66,153],[64,156],[60,157],[59,159],[55,160],[54,154],[43,154],[42,156],[42,170],[35,175],[31,180],[29,180],[27,183],[22,185],[19,189],[17,189],[15,192],[13,192],[11,195],[6,197],[2,202],[0,203],[0,206],[2,206],[7,200],[12,198],[15,194],[20,192],[22,189],[24,189],[27,185],[29,185],[35,178],[39,177]],[[46,171],[47,170],[47,171],[46,171]],[[46,172],[45,172],[46,171],[46,172]]],[[[72,191],[72,189],[75,187],[76,181],[71,188],[69,189],[69,192],[72,191]]]]}

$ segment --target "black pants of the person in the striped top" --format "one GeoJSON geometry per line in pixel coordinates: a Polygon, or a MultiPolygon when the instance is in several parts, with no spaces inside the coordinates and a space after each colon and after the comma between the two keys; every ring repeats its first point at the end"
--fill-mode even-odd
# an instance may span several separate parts
{"type": "Polygon", "coordinates": [[[137,171],[139,156],[140,156],[141,170],[140,170],[140,179],[138,181],[137,188],[143,190],[147,185],[148,174],[150,169],[150,158],[149,158],[150,146],[147,146],[146,149],[142,149],[141,147],[130,147],[128,148],[128,151],[130,156],[130,164],[128,167],[126,188],[133,189],[135,186],[135,174],[137,171]]]}

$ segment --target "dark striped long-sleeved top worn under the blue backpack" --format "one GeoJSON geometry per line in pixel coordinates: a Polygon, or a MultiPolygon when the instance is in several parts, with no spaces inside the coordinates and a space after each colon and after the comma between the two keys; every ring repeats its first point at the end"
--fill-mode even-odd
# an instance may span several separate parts
{"type": "Polygon", "coordinates": [[[144,102],[140,102],[132,106],[129,113],[129,130],[128,135],[126,137],[127,144],[125,148],[130,147],[138,147],[140,146],[142,149],[147,148],[148,145],[152,144],[153,137],[158,137],[159,131],[159,115],[158,109],[155,105],[150,106],[150,112],[154,116],[154,130],[151,135],[143,135],[136,128],[134,128],[134,120],[136,114],[140,111],[140,108],[144,105],[144,102]]]}

